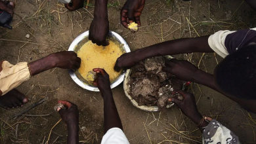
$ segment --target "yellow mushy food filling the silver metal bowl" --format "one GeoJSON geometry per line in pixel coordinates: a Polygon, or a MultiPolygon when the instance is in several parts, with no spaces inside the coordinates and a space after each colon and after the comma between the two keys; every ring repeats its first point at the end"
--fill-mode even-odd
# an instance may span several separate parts
{"type": "Polygon", "coordinates": [[[98,46],[88,41],[77,52],[81,58],[81,66],[78,69],[80,75],[89,83],[95,80],[94,68],[102,68],[110,75],[110,82],[114,82],[121,72],[114,71],[117,58],[123,54],[119,45],[109,41],[108,46],[98,46]]]}

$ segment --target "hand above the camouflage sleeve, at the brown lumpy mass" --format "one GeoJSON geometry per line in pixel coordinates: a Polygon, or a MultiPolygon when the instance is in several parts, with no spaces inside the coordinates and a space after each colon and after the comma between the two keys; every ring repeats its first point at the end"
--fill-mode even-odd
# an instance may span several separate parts
{"type": "Polygon", "coordinates": [[[182,90],[175,90],[173,94],[178,93],[183,96],[182,100],[178,99],[178,96],[173,98],[169,98],[168,101],[171,101],[177,105],[186,117],[190,118],[195,124],[199,124],[200,120],[202,120],[202,115],[198,111],[198,107],[196,106],[196,99],[193,94],[188,92],[184,92],[182,90]]]}

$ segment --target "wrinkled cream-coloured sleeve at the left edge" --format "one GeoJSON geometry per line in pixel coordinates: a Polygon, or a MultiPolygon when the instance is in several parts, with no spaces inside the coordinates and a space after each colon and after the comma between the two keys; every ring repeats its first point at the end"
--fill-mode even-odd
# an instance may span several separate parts
{"type": "Polygon", "coordinates": [[[3,96],[10,90],[16,88],[22,82],[30,79],[30,69],[27,62],[12,65],[7,61],[3,61],[0,72],[0,94],[3,96]]]}

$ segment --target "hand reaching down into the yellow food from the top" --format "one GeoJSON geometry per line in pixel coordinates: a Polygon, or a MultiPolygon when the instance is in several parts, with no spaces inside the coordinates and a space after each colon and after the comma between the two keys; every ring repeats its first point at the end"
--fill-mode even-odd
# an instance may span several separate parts
{"type": "Polygon", "coordinates": [[[109,32],[109,24],[108,17],[106,18],[98,18],[95,16],[93,18],[93,22],[91,22],[91,26],[89,29],[89,40],[96,45],[107,46],[109,45],[108,41],[106,41],[106,36],[109,32]]]}

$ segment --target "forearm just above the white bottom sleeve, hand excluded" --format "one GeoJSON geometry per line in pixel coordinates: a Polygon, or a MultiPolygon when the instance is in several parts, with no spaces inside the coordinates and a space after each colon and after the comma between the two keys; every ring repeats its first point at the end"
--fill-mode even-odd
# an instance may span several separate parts
{"type": "Polygon", "coordinates": [[[106,133],[111,128],[120,128],[123,130],[121,119],[118,115],[116,104],[112,96],[111,90],[104,92],[104,132],[106,133]]]}

